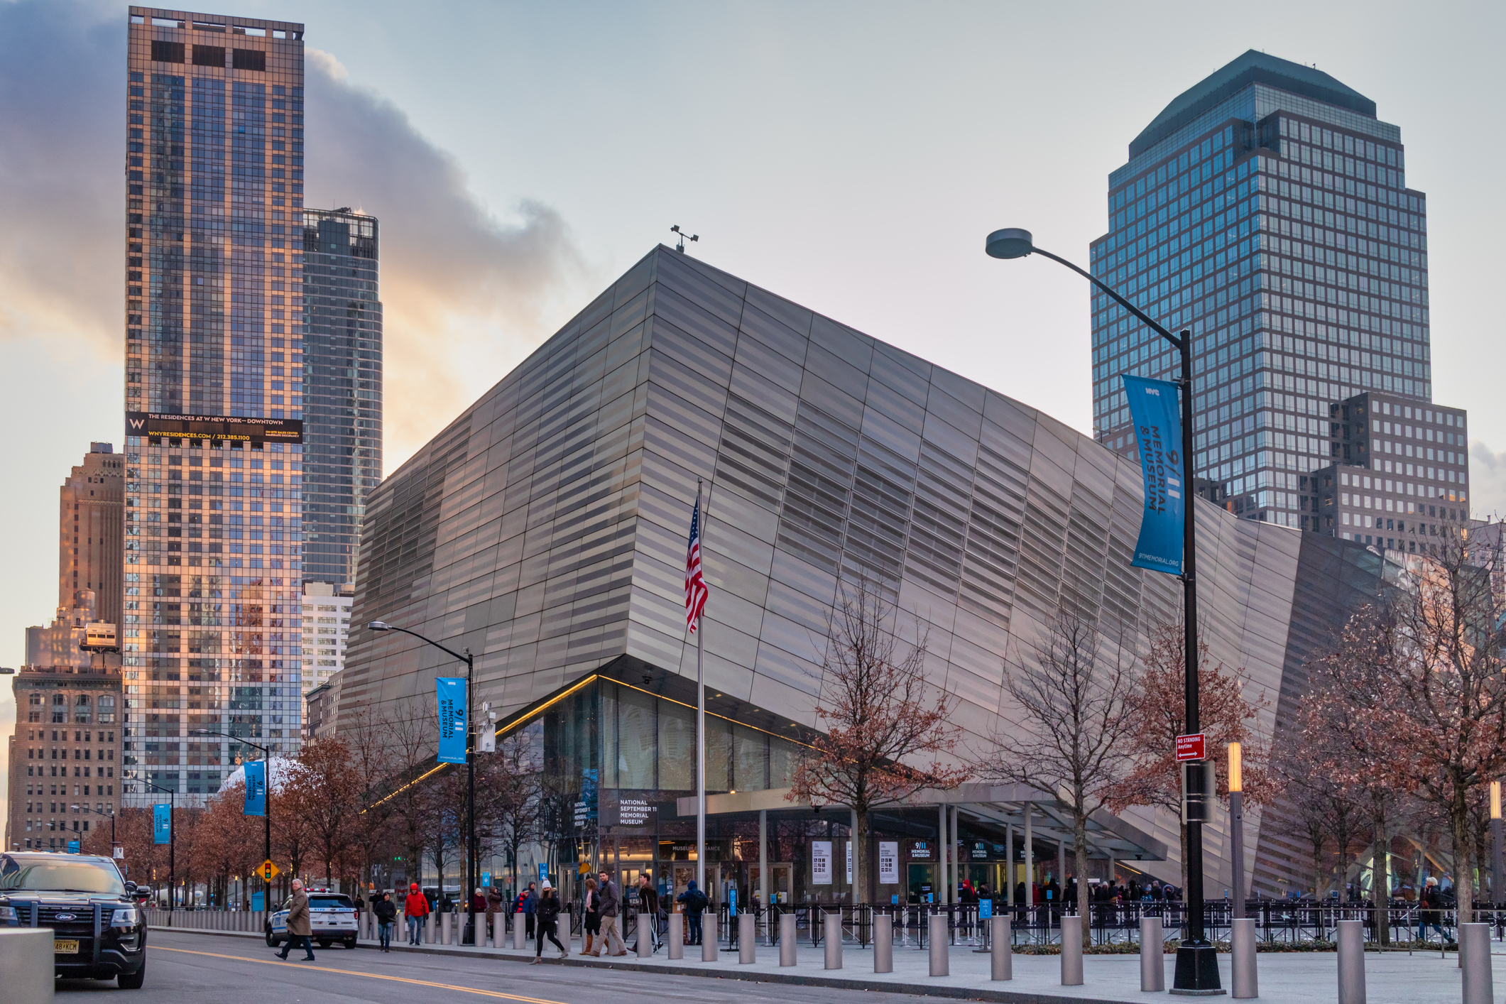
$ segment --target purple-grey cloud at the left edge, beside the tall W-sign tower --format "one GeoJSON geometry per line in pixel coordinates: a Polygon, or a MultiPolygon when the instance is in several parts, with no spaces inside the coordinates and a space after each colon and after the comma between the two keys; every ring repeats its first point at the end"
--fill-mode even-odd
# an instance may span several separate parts
{"type": "Polygon", "coordinates": [[[0,343],[119,352],[125,12],[0,3],[0,343]]]}

